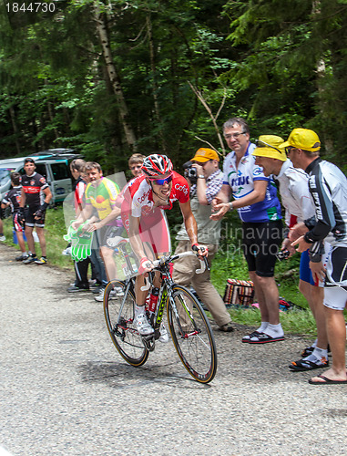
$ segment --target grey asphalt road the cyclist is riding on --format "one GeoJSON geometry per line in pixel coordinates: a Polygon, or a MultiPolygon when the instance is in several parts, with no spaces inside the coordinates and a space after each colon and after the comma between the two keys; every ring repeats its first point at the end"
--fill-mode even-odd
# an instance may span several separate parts
{"type": "Polygon", "coordinates": [[[15,254],[0,245],[0,447],[12,455],[346,453],[347,386],[311,386],[311,373],[287,368],[303,337],[250,346],[244,326],[215,331],[209,385],[189,377],[171,342],[132,368],[102,306],[67,294],[71,273],[15,254]]]}

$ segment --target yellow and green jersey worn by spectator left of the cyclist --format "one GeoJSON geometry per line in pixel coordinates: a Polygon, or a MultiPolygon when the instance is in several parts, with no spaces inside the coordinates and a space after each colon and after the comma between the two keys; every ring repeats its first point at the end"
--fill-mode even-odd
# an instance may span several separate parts
{"type": "Polygon", "coordinates": [[[101,220],[105,219],[112,210],[117,207],[116,200],[119,193],[117,183],[102,177],[97,183],[97,187],[92,182],[87,184],[86,204],[92,204],[97,209],[97,214],[101,220]]]}

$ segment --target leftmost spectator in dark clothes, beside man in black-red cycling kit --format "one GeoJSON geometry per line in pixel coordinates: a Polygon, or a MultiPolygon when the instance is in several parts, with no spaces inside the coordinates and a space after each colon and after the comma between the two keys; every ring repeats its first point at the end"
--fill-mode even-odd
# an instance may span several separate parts
{"type": "Polygon", "coordinates": [[[6,207],[11,207],[12,212],[12,221],[14,224],[15,235],[18,241],[19,248],[21,249],[22,254],[15,257],[16,261],[26,260],[28,254],[26,254],[26,243],[23,237],[24,229],[22,223],[18,221],[18,212],[19,212],[19,202],[20,195],[22,192],[22,186],[20,185],[20,174],[19,172],[11,173],[11,185],[12,189],[9,190],[1,202],[1,208],[5,209],[6,207]]]}

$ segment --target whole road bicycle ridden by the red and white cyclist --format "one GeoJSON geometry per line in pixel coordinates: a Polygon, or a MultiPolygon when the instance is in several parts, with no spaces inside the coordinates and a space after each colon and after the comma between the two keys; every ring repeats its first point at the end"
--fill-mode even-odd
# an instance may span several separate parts
{"type": "MultiPolygon", "coordinates": [[[[131,274],[132,266],[124,241],[117,244],[117,249],[124,254],[128,264],[128,277],[126,280],[110,281],[104,294],[107,329],[117,351],[131,366],[143,366],[160,337],[160,325],[166,309],[169,332],[183,366],[200,383],[209,383],[217,371],[217,350],[209,319],[197,298],[184,286],[176,285],[170,274],[172,262],[194,254],[172,254],[153,262],[153,271],[158,271],[161,277],[158,305],[152,316],[154,334],[141,336],[134,324],[135,277],[131,274]],[[124,295],[116,295],[115,288],[121,288],[124,295]]],[[[205,270],[205,264],[200,263],[202,267],[197,273],[205,270]]],[[[149,289],[151,274],[147,283],[149,289]]]]}

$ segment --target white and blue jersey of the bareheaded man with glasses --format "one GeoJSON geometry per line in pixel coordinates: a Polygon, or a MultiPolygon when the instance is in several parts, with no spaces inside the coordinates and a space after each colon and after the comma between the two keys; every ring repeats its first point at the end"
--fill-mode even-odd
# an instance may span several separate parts
{"type": "Polygon", "coordinates": [[[254,190],[255,181],[268,181],[265,198],[262,202],[255,202],[249,206],[238,209],[240,219],[246,223],[272,222],[281,219],[281,203],[277,197],[277,189],[274,181],[266,177],[260,166],[255,164],[255,157],[251,152],[255,149],[250,144],[245,155],[241,158],[238,168],[236,167],[236,154],[230,152],[224,163],[224,181],[231,187],[232,196],[239,200],[254,190]]]}

